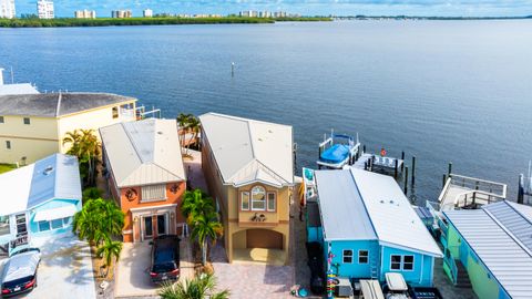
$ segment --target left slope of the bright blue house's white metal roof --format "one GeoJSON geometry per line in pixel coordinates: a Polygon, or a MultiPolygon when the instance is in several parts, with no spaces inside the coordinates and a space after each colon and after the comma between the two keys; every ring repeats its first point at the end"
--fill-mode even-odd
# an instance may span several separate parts
{"type": "Polygon", "coordinates": [[[350,171],[316,171],[326,240],[375,240],[364,202],[350,171]]]}

